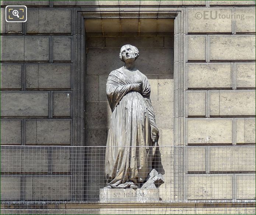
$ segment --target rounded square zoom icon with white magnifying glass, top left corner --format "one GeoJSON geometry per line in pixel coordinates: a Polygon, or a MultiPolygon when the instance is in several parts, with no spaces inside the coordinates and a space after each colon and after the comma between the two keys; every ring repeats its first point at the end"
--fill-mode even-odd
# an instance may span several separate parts
{"type": "Polygon", "coordinates": [[[5,20],[7,22],[25,22],[27,21],[27,7],[26,6],[6,6],[5,20]]]}

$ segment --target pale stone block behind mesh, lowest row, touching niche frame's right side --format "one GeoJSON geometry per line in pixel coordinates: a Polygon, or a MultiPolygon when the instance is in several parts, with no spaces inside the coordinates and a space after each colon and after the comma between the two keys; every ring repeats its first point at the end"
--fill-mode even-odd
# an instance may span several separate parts
{"type": "Polygon", "coordinates": [[[187,176],[188,200],[232,199],[232,175],[187,176]]]}

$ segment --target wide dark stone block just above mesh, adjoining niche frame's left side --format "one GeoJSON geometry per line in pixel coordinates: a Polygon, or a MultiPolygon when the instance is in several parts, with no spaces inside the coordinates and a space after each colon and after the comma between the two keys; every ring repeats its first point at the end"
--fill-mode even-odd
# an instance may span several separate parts
{"type": "Polygon", "coordinates": [[[26,145],[70,145],[71,121],[26,120],[26,145]]]}

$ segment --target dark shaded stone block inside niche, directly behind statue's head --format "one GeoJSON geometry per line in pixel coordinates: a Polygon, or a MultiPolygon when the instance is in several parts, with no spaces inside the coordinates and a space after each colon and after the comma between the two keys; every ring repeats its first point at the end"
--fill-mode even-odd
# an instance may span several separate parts
{"type": "MultiPolygon", "coordinates": [[[[141,48],[136,67],[143,74],[173,74],[173,49],[141,48]]],[[[120,49],[88,49],[87,74],[108,75],[123,66],[119,59],[120,49]],[[101,59],[99,61],[98,59],[101,59]]]]}

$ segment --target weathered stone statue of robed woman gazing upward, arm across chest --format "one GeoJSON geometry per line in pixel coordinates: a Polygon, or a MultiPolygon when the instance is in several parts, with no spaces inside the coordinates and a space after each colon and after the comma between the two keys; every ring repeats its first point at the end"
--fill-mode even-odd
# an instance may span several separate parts
{"type": "Polygon", "coordinates": [[[147,77],[135,67],[136,47],[125,45],[125,66],[108,77],[106,93],[112,110],[105,153],[106,188],[140,188],[152,170],[159,138],[147,77]],[[153,147],[152,147],[153,146],[153,147]]]}

